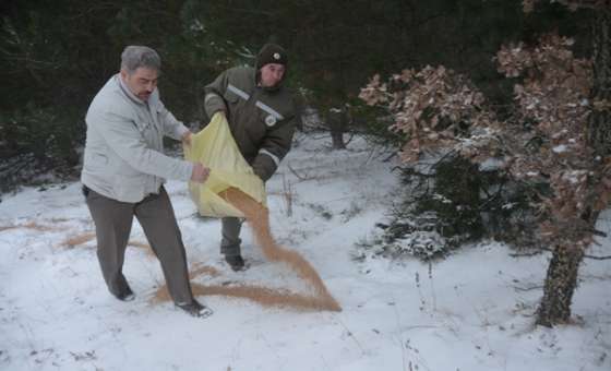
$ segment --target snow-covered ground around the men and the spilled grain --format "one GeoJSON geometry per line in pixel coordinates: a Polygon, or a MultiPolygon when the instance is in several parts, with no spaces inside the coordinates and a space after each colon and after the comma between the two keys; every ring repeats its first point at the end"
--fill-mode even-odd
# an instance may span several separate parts
{"type": "MultiPolygon", "coordinates": [[[[610,370],[611,261],[587,260],[574,297],[574,324],[532,325],[549,255],[512,258],[502,244],[465,248],[431,265],[355,260],[397,192],[362,140],[330,151],[300,134],[268,182],[276,239],[318,270],[342,312],[268,308],[200,296],[215,314],[194,319],[154,300],[164,279],[146,249],[128,249],[124,273],[136,299],[121,302],[103,282],[80,184],[25,189],[0,203],[1,370],[610,370]],[[292,195],[289,203],[286,194],[292,195]],[[15,228],[4,228],[13,226],[15,228]],[[85,239],[86,240],[86,239],[85,239]]],[[[168,192],[201,285],[303,289],[268,263],[244,228],[251,267],[235,273],[219,252],[219,222],[196,216],[181,182],[168,192]]],[[[611,216],[601,228],[609,230],[611,216]]],[[[145,242],[134,223],[131,241],[145,242]]],[[[590,253],[609,254],[611,241],[590,253]]]]}

